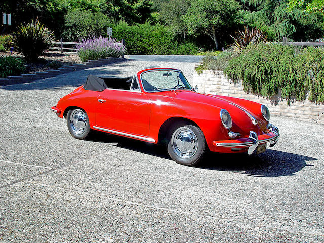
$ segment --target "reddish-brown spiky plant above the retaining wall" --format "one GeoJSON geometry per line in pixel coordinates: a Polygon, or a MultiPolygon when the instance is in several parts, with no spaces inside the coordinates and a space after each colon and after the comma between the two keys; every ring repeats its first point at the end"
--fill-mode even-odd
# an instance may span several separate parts
{"type": "Polygon", "coordinates": [[[266,34],[256,27],[253,29],[249,29],[249,26],[244,26],[244,31],[236,32],[236,36],[233,37],[234,43],[231,45],[237,51],[241,51],[242,48],[248,46],[249,44],[257,44],[260,42],[266,42],[267,36],[266,34]]]}

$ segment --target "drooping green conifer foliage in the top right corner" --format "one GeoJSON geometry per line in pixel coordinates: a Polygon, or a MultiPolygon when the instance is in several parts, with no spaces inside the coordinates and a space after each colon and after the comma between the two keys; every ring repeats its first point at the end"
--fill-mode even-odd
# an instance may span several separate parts
{"type": "Polygon", "coordinates": [[[270,39],[288,37],[308,41],[323,35],[323,17],[299,8],[289,10],[288,0],[246,0],[244,23],[264,30],[270,39]]]}

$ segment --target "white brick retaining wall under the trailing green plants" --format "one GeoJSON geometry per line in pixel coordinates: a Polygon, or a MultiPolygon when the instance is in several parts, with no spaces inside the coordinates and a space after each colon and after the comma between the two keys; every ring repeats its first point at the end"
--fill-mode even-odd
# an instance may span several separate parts
{"type": "Polygon", "coordinates": [[[247,99],[265,104],[271,115],[293,117],[301,120],[312,120],[324,124],[324,105],[316,105],[310,101],[292,102],[287,105],[287,100],[281,101],[280,95],[267,99],[261,96],[247,94],[242,89],[242,84],[233,84],[227,80],[223,71],[203,71],[200,75],[194,72],[193,87],[198,86],[199,93],[231,96],[247,99]]]}

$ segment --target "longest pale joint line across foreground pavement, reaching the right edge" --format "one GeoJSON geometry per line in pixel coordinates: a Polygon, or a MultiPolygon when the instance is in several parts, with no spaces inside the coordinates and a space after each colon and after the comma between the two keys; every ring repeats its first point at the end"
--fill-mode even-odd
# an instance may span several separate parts
{"type": "Polygon", "coordinates": [[[303,234],[309,234],[309,235],[315,235],[315,236],[324,237],[324,233],[322,233],[322,232],[316,232],[316,231],[309,232],[309,231],[303,231],[303,230],[289,229],[288,227],[283,228],[283,227],[275,227],[275,226],[271,226],[271,225],[256,224],[256,223],[250,223],[250,222],[247,223],[247,222],[242,222],[240,220],[225,219],[225,218],[214,217],[214,216],[209,216],[209,215],[204,215],[204,214],[190,213],[190,212],[176,210],[176,209],[170,209],[170,208],[157,207],[157,206],[153,206],[153,205],[141,204],[141,203],[136,203],[134,201],[121,200],[121,199],[117,199],[117,198],[113,198],[113,197],[109,197],[109,196],[104,196],[104,195],[93,194],[93,193],[89,193],[89,192],[85,192],[85,191],[80,191],[80,190],[75,190],[75,189],[68,189],[68,188],[64,188],[64,187],[39,183],[39,182],[36,182],[36,181],[26,180],[25,182],[36,184],[36,185],[39,185],[39,186],[48,187],[48,188],[54,188],[54,189],[59,189],[59,190],[63,190],[63,191],[79,193],[79,194],[83,194],[85,196],[104,198],[104,199],[111,200],[111,201],[117,201],[118,203],[136,205],[136,206],[140,206],[140,207],[150,208],[150,209],[153,209],[153,210],[174,212],[174,213],[178,213],[178,214],[196,216],[196,217],[213,219],[213,220],[218,220],[218,221],[231,222],[231,223],[240,223],[241,225],[247,225],[247,224],[252,225],[252,224],[254,224],[255,226],[264,227],[264,228],[268,228],[268,229],[277,229],[277,230],[282,230],[282,231],[288,231],[288,232],[291,232],[291,233],[303,233],[303,234]]]}

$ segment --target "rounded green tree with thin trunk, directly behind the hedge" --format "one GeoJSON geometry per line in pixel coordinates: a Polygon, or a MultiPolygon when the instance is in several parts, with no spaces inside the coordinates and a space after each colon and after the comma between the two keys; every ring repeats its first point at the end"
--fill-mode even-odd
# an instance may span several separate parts
{"type": "Polygon", "coordinates": [[[235,0],[191,0],[184,21],[189,33],[206,33],[219,49],[220,40],[236,29],[240,7],[235,0]]]}

